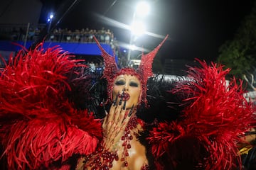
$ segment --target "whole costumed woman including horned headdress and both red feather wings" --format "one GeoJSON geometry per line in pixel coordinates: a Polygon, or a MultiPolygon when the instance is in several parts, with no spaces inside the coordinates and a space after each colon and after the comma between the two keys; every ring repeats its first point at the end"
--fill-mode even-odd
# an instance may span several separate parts
{"type": "MultiPolygon", "coordinates": [[[[75,92],[73,84],[91,89],[91,84],[78,83],[78,79],[87,79],[86,75],[67,80],[70,72],[78,74],[74,70],[81,66],[79,61],[70,60],[61,50],[21,52],[0,79],[5,87],[0,89],[1,161],[7,163],[1,169],[242,167],[237,144],[255,125],[255,109],[235,80],[227,87],[229,70],[199,61],[202,67],[190,67],[188,79],[163,91],[165,105],[154,107],[159,103],[154,96],[156,102],[150,100],[148,107],[148,85],[149,89],[154,87],[147,81],[163,42],[142,55],[137,70],[118,69],[114,57],[97,42],[105,60],[102,77],[107,80],[107,102],[112,102],[102,122],[87,110],[75,108],[67,98],[67,91],[75,92]],[[174,94],[174,98],[169,100],[167,94],[174,94]],[[137,118],[137,108],[145,108],[144,118],[151,117],[153,111],[158,120],[144,123],[137,118]],[[174,119],[167,119],[170,117],[174,119]]],[[[81,98],[77,99],[80,103],[81,98]]],[[[83,105],[92,102],[89,96],[83,105]]]]}

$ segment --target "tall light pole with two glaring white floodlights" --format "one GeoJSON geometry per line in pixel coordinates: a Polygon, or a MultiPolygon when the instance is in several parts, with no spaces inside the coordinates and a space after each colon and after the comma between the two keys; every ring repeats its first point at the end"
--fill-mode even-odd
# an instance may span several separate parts
{"type": "Polygon", "coordinates": [[[129,50],[127,54],[127,64],[131,59],[132,45],[135,38],[145,32],[143,18],[149,13],[149,4],[146,1],[139,1],[132,16],[132,25],[130,26],[129,50]]]}

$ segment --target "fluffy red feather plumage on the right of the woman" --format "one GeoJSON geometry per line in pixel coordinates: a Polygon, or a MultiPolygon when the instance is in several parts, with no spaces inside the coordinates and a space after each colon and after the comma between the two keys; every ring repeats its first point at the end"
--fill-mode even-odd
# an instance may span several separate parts
{"type": "Polygon", "coordinates": [[[174,168],[186,159],[198,169],[241,168],[237,143],[255,123],[255,111],[235,79],[226,84],[229,69],[199,62],[201,68],[188,71],[191,80],[172,91],[187,96],[181,118],[150,132],[152,152],[157,158],[168,155],[174,168]]]}

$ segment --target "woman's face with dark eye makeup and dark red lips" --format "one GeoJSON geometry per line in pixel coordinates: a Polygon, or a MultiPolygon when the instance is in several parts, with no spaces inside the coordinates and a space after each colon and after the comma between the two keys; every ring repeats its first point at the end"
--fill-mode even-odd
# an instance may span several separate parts
{"type": "Polygon", "coordinates": [[[122,74],[114,81],[112,96],[113,100],[117,98],[117,104],[120,98],[123,96],[123,101],[126,101],[126,108],[132,108],[137,106],[139,102],[139,96],[142,93],[142,84],[137,77],[122,74]],[[119,94],[119,95],[118,95],[119,94]],[[123,95],[122,95],[123,94],[123,95]]]}

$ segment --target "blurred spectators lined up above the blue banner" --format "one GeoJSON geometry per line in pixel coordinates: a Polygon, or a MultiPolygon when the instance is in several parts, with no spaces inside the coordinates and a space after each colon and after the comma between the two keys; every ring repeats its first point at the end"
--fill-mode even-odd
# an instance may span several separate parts
{"type": "MultiPolygon", "coordinates": [[[[0,26],[0,40],[37,40],[45,26],[0,26]]],[[[93,35],[101,43],[111,44],[114,33],[102,27],[100,30],[82,28],[70,30],[68,28],[55,28],[50,31],[45,41],[53,42],[93,42],[93,35]]]]}

